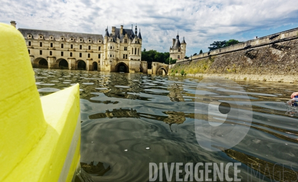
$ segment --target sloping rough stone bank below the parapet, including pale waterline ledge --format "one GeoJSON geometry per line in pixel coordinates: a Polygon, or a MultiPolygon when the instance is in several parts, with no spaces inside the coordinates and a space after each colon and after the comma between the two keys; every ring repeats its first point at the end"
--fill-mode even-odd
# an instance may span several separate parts
{"type": "Polygon", "coordinates": [[[168,75],[298,83],[298,39],[208,58],[177,62],[168,75]]]}

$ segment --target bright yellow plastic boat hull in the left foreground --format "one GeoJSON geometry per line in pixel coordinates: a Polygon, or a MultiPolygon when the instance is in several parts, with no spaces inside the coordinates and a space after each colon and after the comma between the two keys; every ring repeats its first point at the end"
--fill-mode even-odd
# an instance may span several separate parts
{"type": "Polygon", "coordinates": [[[80,157],[79,85],[40,98],[23,36],[2,23],[0,62],[0,182],[71,182],[80,157]]]}

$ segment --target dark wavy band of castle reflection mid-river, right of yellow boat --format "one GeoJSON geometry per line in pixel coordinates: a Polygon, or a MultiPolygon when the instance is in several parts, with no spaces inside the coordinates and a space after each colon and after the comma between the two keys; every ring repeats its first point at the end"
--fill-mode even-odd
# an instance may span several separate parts
{"type": "Polygon", "coordinates": [[[163,121],[171,127],[172,124],[182,124],[186,118],[194,118],[192,113],[183,113],[176,111],[162,112],[167,116],[151,115],[145,113],[138,113],[133,109],[113,109],[113,111],[107,110],[105,113],[97,113],[89,115],[90,120],[102,119],[102,118],[147,118],[150,120],[163,121]]]}

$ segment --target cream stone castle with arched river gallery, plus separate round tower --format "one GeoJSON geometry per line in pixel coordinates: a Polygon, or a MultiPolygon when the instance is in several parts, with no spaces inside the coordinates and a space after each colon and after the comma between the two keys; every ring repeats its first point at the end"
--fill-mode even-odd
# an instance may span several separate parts
{"type": "MultiPolygon", "coordinates": [[[[16,27],[16,22],[10,22],[16,27]]],[[[142,36],[132,29],[112,27],[105,35],[18,28],[25,38],[35,68],[82,69],[87,71],[167,73],[162,63],[142,61],[142,36]],[[150,70],[149,70],[149,69],[150,70]]],[[[185,57],[186,43],[173,39],[170,58],[185,57]]]]}

